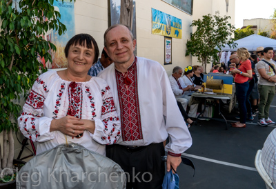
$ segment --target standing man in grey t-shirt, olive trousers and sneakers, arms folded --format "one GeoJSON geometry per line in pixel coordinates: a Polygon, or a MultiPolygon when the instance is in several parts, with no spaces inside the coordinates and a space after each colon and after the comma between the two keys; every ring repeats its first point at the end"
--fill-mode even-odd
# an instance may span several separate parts
{"type": "Polygon", "coordinates": [[[275,122],[269,118],[270,103],[273,101],[275,95],[275,62],[273,58],[273,48],[264,48],[264,59],[257,63],[257,70],[259,72],[259,115],[258,124],[260,126],[275,125],[275,122]],[[270,63],[270,66],[268,65],[270,63]],[[272,67],[273,68],[272,68],[272,67]]]}

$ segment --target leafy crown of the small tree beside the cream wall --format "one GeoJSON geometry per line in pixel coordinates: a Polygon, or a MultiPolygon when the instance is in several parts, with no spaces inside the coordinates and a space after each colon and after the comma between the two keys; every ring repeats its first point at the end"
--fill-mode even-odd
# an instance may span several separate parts
{"type": "Polygon", "coordinates": [[[203,19],[193,20],[191,27],[197,27],[194,33],[190,34],[190,40],[187,41],[186,56],[192,55],[202,63],[204,72],[206,65],[210,61],[218,61],[217,52],[224,47],[224,44],[235,47],[236,43],[231,37],[235,26],[228,23],[230,17],[203,16],[203,19]]]}

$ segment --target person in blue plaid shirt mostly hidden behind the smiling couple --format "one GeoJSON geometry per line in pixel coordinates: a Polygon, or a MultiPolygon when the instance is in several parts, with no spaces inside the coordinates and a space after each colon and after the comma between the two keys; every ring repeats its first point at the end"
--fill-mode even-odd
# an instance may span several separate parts
{"type": "Polygon", "coordinates": [[[106,54],[106,51],[104,51],[103,49],[103,51],[101,52],[101,58],[99,58],[98,61],[91,66],[90,70],[88,71],[88,74],[90,76],[96,77],[97,74],[101,72],[101,70],[107,68],[111,63],[112,60],[110,59],[110,57],[108,57],[108,54],[106,54]]]}

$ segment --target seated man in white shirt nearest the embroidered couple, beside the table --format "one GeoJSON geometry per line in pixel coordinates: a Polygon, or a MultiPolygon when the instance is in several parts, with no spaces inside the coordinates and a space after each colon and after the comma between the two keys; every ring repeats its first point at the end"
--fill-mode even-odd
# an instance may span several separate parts
{"type": "Polygon", "coordinates": [[[172,88],[173,94],[175,94],[175,99],[179,101],[184,110],[186,110],[188,105],[188,99],[184,97],[184,92],[193,88],[193,86],[185,86],[183,79],[179,79],[182,76],[182,68],[175,66],[172,70],[172,75],[168,78],[170,80],[170,86],[172,88]]]}

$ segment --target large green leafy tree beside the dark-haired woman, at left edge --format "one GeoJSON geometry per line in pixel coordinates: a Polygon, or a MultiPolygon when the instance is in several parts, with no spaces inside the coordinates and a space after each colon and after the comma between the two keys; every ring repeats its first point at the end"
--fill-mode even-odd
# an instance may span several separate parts
{"type": "Polygon", "coordinates": [[[19,94],[26,94],[38,75],[46,71],[37,57],[52,61],[49,52],[56,50],[43,36],[48,30],[57,30],[59,34],[66,31],[53,2],[0,0],[0,132],[3,132],[0,170],[11,168],[14,158],[12,131],[17,130],[16,119],[21,111],[14,100],[20,98],[19,94]]]}

